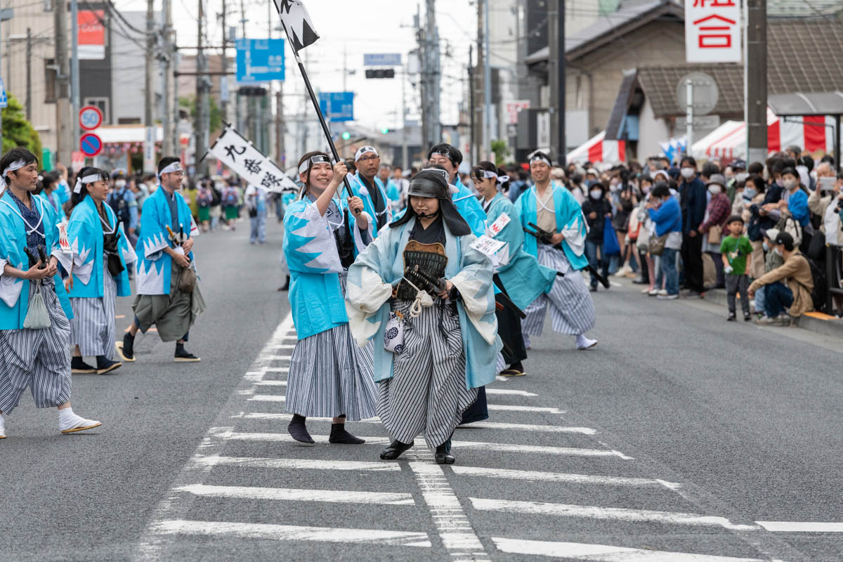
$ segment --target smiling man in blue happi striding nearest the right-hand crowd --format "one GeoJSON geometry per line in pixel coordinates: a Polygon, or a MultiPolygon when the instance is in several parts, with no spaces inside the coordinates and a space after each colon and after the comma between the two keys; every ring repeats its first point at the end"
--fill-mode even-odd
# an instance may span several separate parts
{"type": "Polygon", "coordinates": [[[583,211],[571,191],[550,180],[550,157],[536,152],[530,158],[530,173],[535,184],[518,196],[515,208],[520,226],[533,223],[552,233],[550,244],[532,233],[524,237],[524,251],[539,259],[541,265],[564,274],[557,276],[547,294],[542,293],[524,310],[522,321],[524,342],[530,348],[529,336],[541,335],[545,326],[545,312],[550,306],[550,318],[556,332],[576,336],[578,350],[592,349],[597,340],[586,336],[597,321],[594,302],[580,270],[588,267],[585,238],[588,233],[583,211]]]}

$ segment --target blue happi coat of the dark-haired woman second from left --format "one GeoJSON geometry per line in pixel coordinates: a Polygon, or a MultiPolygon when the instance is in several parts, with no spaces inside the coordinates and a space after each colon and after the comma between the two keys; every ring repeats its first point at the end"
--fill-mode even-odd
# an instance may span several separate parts
{"type": "MultiPolygon", "coordinates": [[[[117,238],[117,254],[123,270],[115,276],[117,296],[132,295],[129,284],[129,274],[126,265],[137,260],[135,252],[128,244],[123,225],[117,221],[115,212],[105,202],[105,214],[109,217],[107,231],[115,230],[120,234],[117,238]]],[[[104,264],[103,264],[103,236],[106,232],[105,224],[100,220],[96,203],[90,195],[85,197],[70,214],[67,222],[67,239],[73,252],[73,286],[70,297],[102,298],[104,294],[104,264]]]]}

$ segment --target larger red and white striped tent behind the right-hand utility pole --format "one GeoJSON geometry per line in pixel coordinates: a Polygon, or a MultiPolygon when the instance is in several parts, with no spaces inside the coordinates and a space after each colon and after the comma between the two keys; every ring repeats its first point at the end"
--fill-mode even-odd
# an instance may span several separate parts
{"type": "MultiPolygon", "coordinates": [[[[767,150],[776,153],[790,145],[806,153],[833,153],[835,119],[830,115],[805,115],[783,120],[767,110],[767,150]]],[[[733,160],[746,158],[746,123],[726,121],[694,143],[694,158],[733,160]]]]}

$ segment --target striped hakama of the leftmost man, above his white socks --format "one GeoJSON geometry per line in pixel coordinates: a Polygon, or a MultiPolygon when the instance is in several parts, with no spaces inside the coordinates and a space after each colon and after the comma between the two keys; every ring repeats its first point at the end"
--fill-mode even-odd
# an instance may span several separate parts
{"type": "MultiPolygon", "coordinates": [[[[30,387],[36,408],[61,406],[70,400],[70,322],[52,278],[41,283],[52,327],[0,330],[0,411],[6,415],[18,405],[26,387],[30,387]]],[[[30,297],[37,286],[30,283],[30,297]]]]}

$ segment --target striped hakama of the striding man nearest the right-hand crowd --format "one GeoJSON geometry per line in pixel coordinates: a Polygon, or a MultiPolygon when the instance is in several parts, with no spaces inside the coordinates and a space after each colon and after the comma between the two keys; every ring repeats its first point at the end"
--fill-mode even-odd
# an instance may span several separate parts
{"type": "Polygon", "coordinates": [[[572,270],[561,249],[549,244],[539,244],[539,263],[561,271],[565,276],[557,276],[550,292],[539,295],[524,310],[527,314],[527,318],[521,321],[524,335],[541,335],[545,327],[545,310],[549,305],[554,331],[580,335],[593,329],[597,316],[583,275],[578,270],[572,270]]]}

